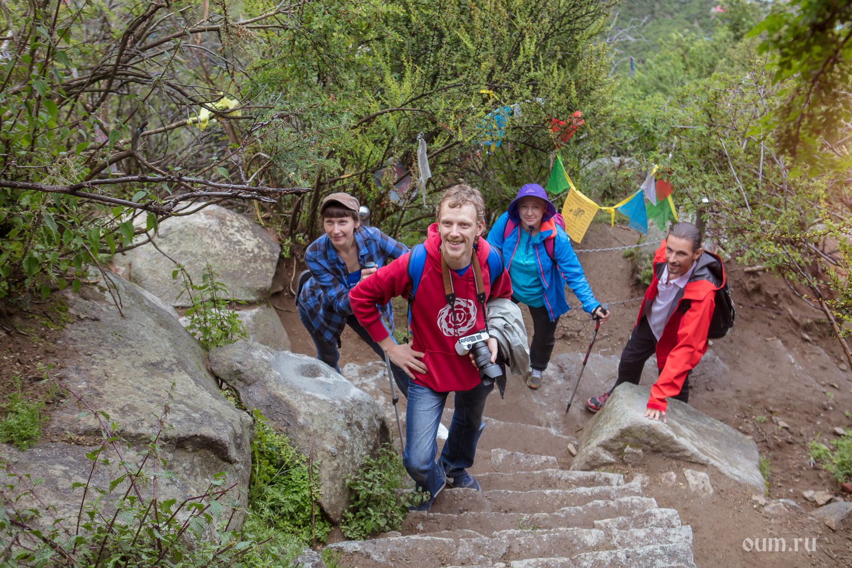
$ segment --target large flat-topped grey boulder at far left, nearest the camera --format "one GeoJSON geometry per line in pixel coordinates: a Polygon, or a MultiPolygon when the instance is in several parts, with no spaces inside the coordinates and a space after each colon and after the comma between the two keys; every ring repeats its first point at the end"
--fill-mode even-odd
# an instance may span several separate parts
{"type": "MultiPolygon", "coordinates": [[[[217,473],[227,473],[227,485],[237,484],[233,496],[245,505],[251,470],[250,416],[237,410],[220,393],[216,379],[204,370],[204,349],[181,327],[161,302],[138,290],[133,284],[107,274],[113,293],[120,298],[121,313],[103,286],[85,286],[78,295],[66,293],[65,300],[72,323],[67,324],[60,340],[60,364],[55,372],[59,380],[77,393],[91,410],[106,416],[80,416],[85,406],[74,396],[51,412],[45,424],[42,443],[30,450],[3,445],[17,473],[43,478],[37,494],[46,505],[56,508],[57,517],[76,519],[81,489],[92,468],[86,453],[101,442],[101,422],[120,425],[120,436],[130,443],[110,446],[100,459],[108,457],[112,466],[99,465],[92,485],[107,489],[124,469],[120,459],[139,464],[140,452],[148,450],[151,438],[160,433],[158,458],[147,460],[146,469],[169,469],[174,479],[160,479],[160,502],[177,502],[207,491],[217,473]],[[167,395],[172,402],[160,422],[167,395]],[[108,416],[108,417],[107,417],[108,416]]],[[[102,282],[102,281],[101,281],[102,282]]],[[[117,493],[124,494],[126,483],[117,493]]],[[[142,496],[150,496],[148,484],[142,496]]],[[[89,496],[94,495],[91,490],[89,496]]],[[[116,499],[106,498],[106,506],[116,499]]],[[[244,513],[237,513],[232,527],[240,526],[244,513]]]]}

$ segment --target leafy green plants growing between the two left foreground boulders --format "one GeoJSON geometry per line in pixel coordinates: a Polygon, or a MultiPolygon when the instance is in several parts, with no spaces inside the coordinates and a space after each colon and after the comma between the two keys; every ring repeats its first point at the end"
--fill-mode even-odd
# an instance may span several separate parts
{"type": "Polygon", "coordinates": [[[269,427],[254,410],[255,439],[251,443],[249,510],[268,527],[304,542],[325,541],[331,524],[317,496],[320,479],[316,462],[294,449],[285,436],[269,427]]]}

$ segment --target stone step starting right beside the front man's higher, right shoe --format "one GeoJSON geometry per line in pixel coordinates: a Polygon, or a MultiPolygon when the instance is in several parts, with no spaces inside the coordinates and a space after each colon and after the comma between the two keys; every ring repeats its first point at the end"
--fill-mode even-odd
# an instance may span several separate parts
{"type": "MultiPolygon", "coordinates": [[[[492,450],[492,453],[497,450],[492,450]]],[[[602,485],[625,485],[619,473],[573,472],[566,469],[543,469],[540,471],[515,473],[478,473],[475,475],[482,491],[509,489],[573,489],[574,487],[597,487],[602,485]]]]}

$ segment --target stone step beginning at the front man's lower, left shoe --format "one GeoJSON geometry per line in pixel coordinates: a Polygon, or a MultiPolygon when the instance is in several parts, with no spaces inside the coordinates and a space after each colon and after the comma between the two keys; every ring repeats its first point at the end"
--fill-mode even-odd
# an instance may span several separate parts
{"type": "Polygon", "coordinates": [[[642,485],[638,482],[603,487],[531,491],[445,489],[435,498],[431,511],[450,514],[469,511],[480,513],[555,513],[561,508],[578,507],[592,501],[612,501],[619,497],[641,495],[642,485]]]}

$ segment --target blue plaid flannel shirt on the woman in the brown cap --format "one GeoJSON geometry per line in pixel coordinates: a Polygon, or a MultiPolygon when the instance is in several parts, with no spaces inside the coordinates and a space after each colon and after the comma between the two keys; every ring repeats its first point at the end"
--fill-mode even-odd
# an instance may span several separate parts
{"type": "MultiPolygon", "coordinates": [[[[399,258],[408,252],[405,244],[396,242],[376,227],[355,229],[355,243],[358,245],[358,262],[362,267],[370,261],[375,262],[377,267],[383,267],[389,256],[399,258]]],[[[340,260],[331,239],[323,235],[308,246],[305,264],[312,276],[302,288],[299,305],[329,343],[337,341],[346,327],[346,320],[352,315],[346,285],[349,273],[346,263],[340,260]]],[[[390,303],[379,307],[379,311],[393,331],[394,311],[390,303]]]]}

